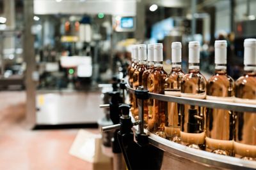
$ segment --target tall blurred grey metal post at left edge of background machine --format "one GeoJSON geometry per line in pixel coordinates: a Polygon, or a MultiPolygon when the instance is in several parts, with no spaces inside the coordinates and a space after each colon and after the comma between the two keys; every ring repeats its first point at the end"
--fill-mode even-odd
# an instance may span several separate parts
{"type": "Polygon", "coordinates": [[[24,1],[24,60],[26,62],[26,120],[29,127],[33,127],[36,123],[36,81],[33,80],[35,74],[35,50],[34,50],[34,36],[31,34],[31,27],[33,25],[33,0],[24,1]]]}

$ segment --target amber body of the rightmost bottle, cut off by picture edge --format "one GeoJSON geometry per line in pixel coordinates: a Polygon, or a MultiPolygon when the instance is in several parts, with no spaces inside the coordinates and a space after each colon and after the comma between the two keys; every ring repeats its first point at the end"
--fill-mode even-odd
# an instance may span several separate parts
{"type": "MultiPolygon", "coordinates": [[[[256,104],[256,66],[237,79],[236,103],[256,104]]],[[[236,157],[256,160],[256,113],[236,113],[236,157]]]]}

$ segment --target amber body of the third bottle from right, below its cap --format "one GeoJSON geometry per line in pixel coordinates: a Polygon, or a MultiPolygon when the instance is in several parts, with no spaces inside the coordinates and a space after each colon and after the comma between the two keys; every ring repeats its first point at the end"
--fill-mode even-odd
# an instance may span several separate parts
{"type": "MultiPolygon", "coordinates": [[[[180,96],[205,99],[206,80],[200,73],[199,66],[192,69],[189,67],[189,73],[185,74],[182,78],[180,96]]],[[[204,107],[182,104],[180,138],[183,145],[204,150],[204,118],[204,107]]]]}

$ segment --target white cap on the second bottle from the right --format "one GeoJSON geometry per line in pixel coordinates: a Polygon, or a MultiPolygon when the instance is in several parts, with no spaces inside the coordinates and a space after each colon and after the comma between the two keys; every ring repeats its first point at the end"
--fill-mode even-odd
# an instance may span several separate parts
{"type": "Polygon", "coordinates": [[[214,43],[215,64],[227,64],[227,41],[216,40],[214,43]]]}

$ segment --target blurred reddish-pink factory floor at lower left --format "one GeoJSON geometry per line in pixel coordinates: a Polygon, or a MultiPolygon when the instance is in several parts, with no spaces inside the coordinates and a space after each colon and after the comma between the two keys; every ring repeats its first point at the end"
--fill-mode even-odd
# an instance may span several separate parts
{"type": "Polygon", "coordinates": [[[68,154],[78,129],[26,129],[25,102],[24,92],[0,92],[0,169],[93,168],[92,163],[68,154]]]}

